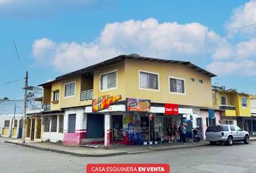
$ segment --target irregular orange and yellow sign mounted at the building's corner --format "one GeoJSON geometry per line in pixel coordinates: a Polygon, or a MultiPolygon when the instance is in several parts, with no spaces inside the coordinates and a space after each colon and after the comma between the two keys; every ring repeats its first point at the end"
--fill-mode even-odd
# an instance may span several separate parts
{"type": "Polygon", "coordinates": [[[121,99],[121,95],[103,95],[102,97],[98,97],[97,99],[93,99],[93,112],[98,112],[99,110],[106,110],[111,104],[117,102],[121,99]]]}

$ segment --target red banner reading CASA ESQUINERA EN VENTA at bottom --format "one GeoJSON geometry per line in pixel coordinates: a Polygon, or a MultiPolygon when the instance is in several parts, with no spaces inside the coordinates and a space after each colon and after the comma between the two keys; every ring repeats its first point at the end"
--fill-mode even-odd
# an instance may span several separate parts
{"type": "Polygon", "coordinates": [[[88,164],[87,173],[170,173],[169,164],[88,164]]]}

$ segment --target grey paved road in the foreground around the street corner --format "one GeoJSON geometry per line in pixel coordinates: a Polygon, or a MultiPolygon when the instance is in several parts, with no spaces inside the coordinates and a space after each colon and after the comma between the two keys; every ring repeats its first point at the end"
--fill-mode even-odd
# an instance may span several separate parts
{"type": "Polygon", "coordinates": [[[171,172],[256,172],[256,142],[85,158],[0,142],[0,172],[85,172],[88,163],[169,163],[171,172]]]}

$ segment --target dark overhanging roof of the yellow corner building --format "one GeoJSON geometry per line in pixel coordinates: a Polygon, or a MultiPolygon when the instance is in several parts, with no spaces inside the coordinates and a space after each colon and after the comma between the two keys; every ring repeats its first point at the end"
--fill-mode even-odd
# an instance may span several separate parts
{"type": "Polygon", "coordinates": [[[62,76],[58,76],[56,77],[56,79],[54,81],[49,81],[46,82],[44,84],[40,84],[39,86],[51,86],[51,84],[53,84],[56,81],[61,81],[62,79],[67,79],[71,76],[77,76],[80,74],[90,74],[93,73],[93,71],[95,71],[95,69],[97,68],[102,68],[104,66],[108,66],[114,63],[119,63],[121,61],[124,61],[125,59],[134,59],[134,60],[143,60],[143,61],[153,61],[153,62],[164,62],[164,63],[177,63],[177,64],[182,64],[184,66],[187,66],[189,68],[192,68],[195,71],[198,71],[201,74],[205,74],[206,76],[209,77],[215,77],[215,74],[210,73],[209,71],[206,71],[202,68],[200,68],[199,66],[195,66],[195,64],[190,63],[189,61],[174,61],[174,60],[166,60],[166,59],[159,59],[159,58],[149,58],[149,57],[144,57],[144,56],[139,56],[137,54],[131,54],[131,55],[121,55],[121,56],[116,56],[115,58],[111,58],[108,59],[106,61],[103,61],[101,63],[96,63],[93,66],[88,66],[86,68],[82,68],[80,70],[77,71],[72,71],[68,74],[64,74],[62,76]]]}

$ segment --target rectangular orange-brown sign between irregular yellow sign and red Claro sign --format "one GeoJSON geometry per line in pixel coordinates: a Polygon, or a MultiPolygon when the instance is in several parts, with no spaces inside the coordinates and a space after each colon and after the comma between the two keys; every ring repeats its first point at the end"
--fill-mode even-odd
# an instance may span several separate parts
{"type": "Polygon", "coordinates": [[[149,112],[150,99],[127,98],[127,111],[149,112]]]}

